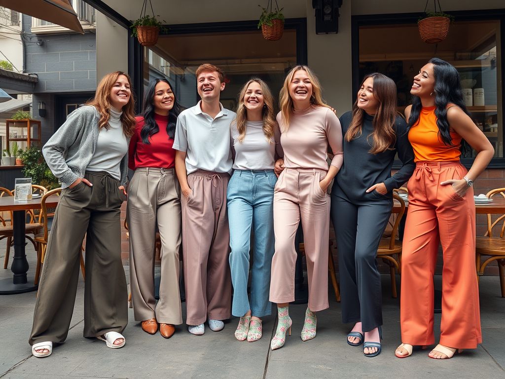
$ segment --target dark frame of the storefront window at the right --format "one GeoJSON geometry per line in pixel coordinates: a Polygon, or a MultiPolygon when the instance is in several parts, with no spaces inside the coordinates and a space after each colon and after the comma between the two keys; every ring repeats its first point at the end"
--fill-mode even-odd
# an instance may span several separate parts
{"type": "MultiPolygon", "coordinates": [[[[501,75],[505,75],[505,9],[486,9],[474,11],[453,11],[446,12],[458,21],[500,21],[500,51],[501,51],[501,75]]],[[[394,13],[382,15],[360,15],[351,16],[351,57],[352,57],[352,99],[358,96],[358,86],[360,85],[360,26],[369,25],[398,25],[415,24],[419,19],[419,13],[394,13]]],[[[501,85],[501,109],[505,112],[505,83],[501,85]]],[[[501,132],[505,137],[505,123],[501,127],[501,132]]],[[[503,138],[505,140],[505,138],[503,138]]],[[[461,163],[469,168],[475,158],[462,158],[461,163]]],[[[393,168],[401,167],[401,162],[395,160],[393,168]]],[[[493,158],[487,168],[505,168],[505,157],[493,158]]]]}

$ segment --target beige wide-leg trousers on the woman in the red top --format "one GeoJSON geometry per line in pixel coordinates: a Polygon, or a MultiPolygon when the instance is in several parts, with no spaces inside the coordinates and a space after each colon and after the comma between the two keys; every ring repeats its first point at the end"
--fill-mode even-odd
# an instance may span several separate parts
{"type": "Polygon", "coordinates": [[[136,321],[182,324],[179,294],[180,187],[175,169],[141,167],[128,188],[130,288],[136,321]],[[156,225],[161,239],[160,301],[155,299],[156,225]]]}

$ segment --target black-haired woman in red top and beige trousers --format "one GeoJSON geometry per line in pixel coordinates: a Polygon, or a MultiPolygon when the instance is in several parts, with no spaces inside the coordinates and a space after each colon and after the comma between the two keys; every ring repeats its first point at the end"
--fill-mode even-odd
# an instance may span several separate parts
{"type": "Polygon", "coordinates": [[[130,141],[129,164],[135,174],[129,185],[126,218],[130,233],[130,287],[133,313],[142,329],[170,338],[182,323],[179,295],[181,204],[172,148],[181,109],[166,79],[145,90],[142,116],[130,141]],[[154,265],[156,226],[161,239],[160,300],[156,304],[154,265]]]}

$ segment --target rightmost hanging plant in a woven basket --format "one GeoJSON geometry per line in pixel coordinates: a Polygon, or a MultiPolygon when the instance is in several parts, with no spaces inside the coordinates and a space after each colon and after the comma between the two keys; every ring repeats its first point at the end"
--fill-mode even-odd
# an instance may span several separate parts
{"type": "Polygon", "coordinates": [[[421,36],[421,39],[426,43],[438,43],[447,37],[449,25],[451,22],[454,23],[454,16],[443,13],[442,9],[440,8],[440,2],[438,2],[438,0],[437,3],[439,12],[437,12],[435,0],[433,0],[435,11],[426,11],[426,8],[428,7],[428,1],[429,0],[426,1],[424,15],[421,16],[417,22],[419,35],[421,36]]]}

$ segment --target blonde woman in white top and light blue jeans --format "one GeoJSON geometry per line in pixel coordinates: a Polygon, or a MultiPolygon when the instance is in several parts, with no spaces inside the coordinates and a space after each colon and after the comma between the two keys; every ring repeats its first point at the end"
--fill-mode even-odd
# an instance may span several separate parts
{"type": "MultiPolygon", "coordinates": [[[[235,337],[257,341],[262,337],[261,317],[272,313],[268,299],[274,255],[275,148],[279,144],[273,97],[267,84],[252,78],[242,87],[237,117],[231,124],[233,175],[228,183],[230,268],[234,295],[232,314],[240,317],[235,337]],[[250,301],[247,298],[251,228],[254,263],[250,301]]],[[[282,155],[282,153],[281,153],[282,155]]]]}

